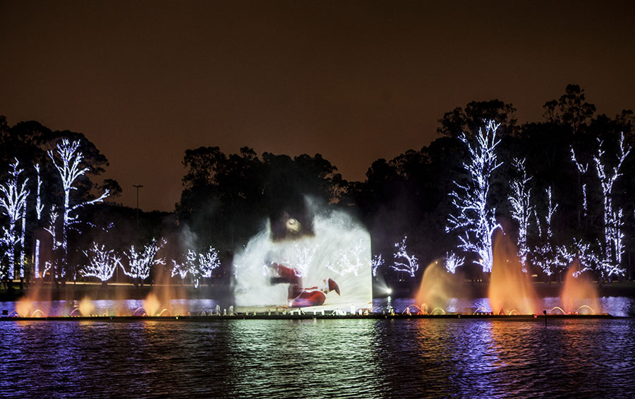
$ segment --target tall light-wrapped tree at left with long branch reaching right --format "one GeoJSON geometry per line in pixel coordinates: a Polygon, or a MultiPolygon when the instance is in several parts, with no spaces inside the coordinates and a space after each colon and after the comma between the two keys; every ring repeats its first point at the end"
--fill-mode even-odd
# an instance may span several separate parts
{"type": "MultiPolygon", "coordinates": [[[[83,154],[78,150],[79,146],[79,141],[71,142],[68,141],[68,139],[66,138],[63,139],[61,143],[57,143],[56,154],[57,157],[59,157],[59,161],[56,160],[56,156],[54,155],[53,150],[48,151],[49,157],[53,161],[53,165],[59,172],[64,190],[64,205],[61,224],[62,254],[61,261],[58,262],[58,268],[66,267],[68,258],[68,228],[71,225],[79,222],[78,216],[75,213],[84,206],[104,201],[104,198],[109,195],[109,190],[107,189],[101,196],[95,199],[76,203],[75,205],[71,206],[71,191],[77,189],[73,186],[75,180],[77,180],[80,176],[83,176],[84,174],[86,174],[86,172],[88,172],[88,170],[90,170],[90,168],[88,167],[80,167],[80,164],[83,161],[83,154]]],[[[59,270],[56,275],[63,276],[63,270],[59,270]]]]}

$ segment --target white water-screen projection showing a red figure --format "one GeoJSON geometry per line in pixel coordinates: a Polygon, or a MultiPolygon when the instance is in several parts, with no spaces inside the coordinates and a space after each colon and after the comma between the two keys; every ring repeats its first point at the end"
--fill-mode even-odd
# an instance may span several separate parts
{"type": "Polygon", "coordinates": [[[370,235],[346,213],[282,214],[234,258],[237,306],[368,308],[370,235]]]}

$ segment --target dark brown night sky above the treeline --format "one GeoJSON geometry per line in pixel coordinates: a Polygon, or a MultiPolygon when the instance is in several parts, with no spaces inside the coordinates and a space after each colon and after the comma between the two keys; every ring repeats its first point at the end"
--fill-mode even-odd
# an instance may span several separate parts
{"type": "Polygon", "coordinates": [[[535,120],[577,83],[635,109],[632,3],[0,1],[0,114],[85,133],[145,210],[174,209],[201,145],[363,179],[471,100],[535,120]]]}

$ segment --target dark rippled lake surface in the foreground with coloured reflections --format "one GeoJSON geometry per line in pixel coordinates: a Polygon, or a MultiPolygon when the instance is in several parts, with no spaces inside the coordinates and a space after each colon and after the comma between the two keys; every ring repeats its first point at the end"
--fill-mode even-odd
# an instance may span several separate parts
{"type": "Polygon", "coordinates": [[[0,396],[633,397],[635,319],[0,322],[0,396]]]}

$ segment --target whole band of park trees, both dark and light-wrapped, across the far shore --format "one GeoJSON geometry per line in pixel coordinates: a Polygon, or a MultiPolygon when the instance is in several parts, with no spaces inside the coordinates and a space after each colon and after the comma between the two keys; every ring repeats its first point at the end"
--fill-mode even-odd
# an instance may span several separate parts
{"type": "Polygon", "coordinates": [[[105,283],[121,268],[120,280],[135,284],[188,273],[195,285],[229,282],[234,252],[267,221],[310,223],[310,198],[365,225],[373,275],[388,281],[440,260],[482,279],[496,234],[517,244],[538,280],[560,280],[574,261],[600,282],[631,279],[633,112],[598,114],[577,85],[543,109],[540,121],[519,123],[500,100],[456,107],[433,142],[375,160],[364,181],[346,181],[320,154],[186,150],[174,212],[140,214],[116,203],[119,184],[99,179],[107,157],[82,133],[0,117],[0,277],[105,283]]]}

